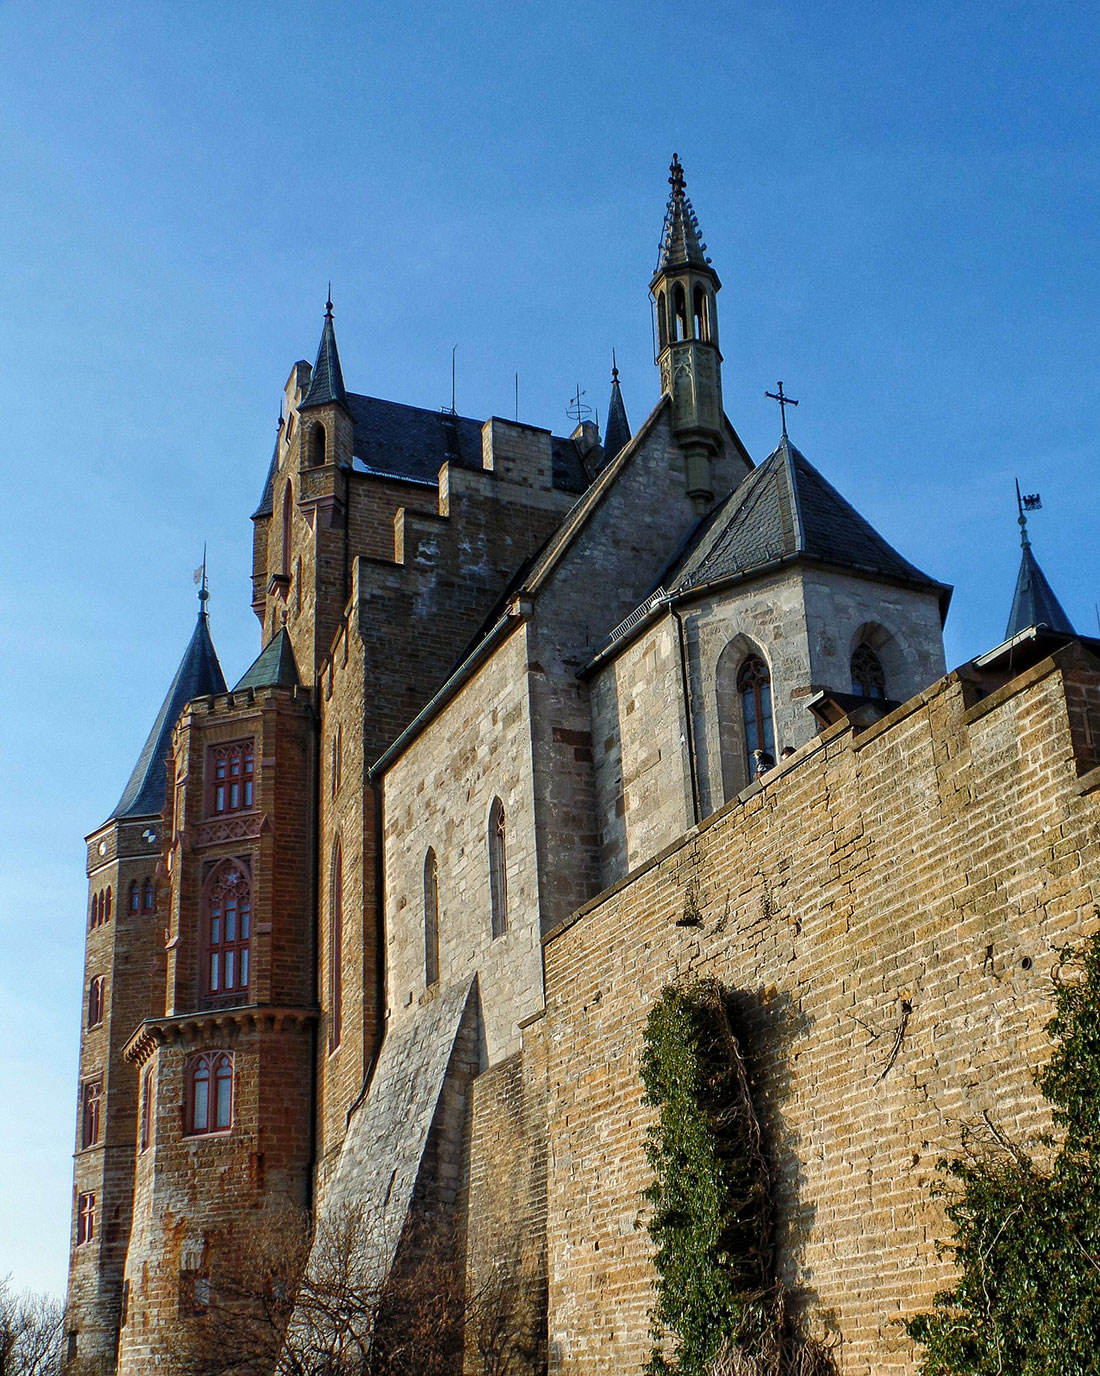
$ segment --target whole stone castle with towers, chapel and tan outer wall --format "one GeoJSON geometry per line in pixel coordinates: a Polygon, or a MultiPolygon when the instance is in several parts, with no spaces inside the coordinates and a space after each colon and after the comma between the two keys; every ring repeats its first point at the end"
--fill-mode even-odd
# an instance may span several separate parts
{"type": "MultiPolygon", "coordinates": [[[[778,1266],[845,1373],[911,1373],[935,1160],[1041,1131],[1100,899],[1100,645],[1027,542],[1005,643],[723,407],[673,160],[661,399],[569,438],[350,392],[326,307],[253,522],[262,652],[200,616],[89,905],[67,1370],[171,1369],[227,1237],[416,1200],[529,1296],[536,1369],[640,1372],[637,1060],[673,980],[752,1028],[778,1266]]],[[[1022,523],[1023,523],[1022,510],[1022,523]]],[[[1008,601],[1008,597],[1006,597],[1008,601]]]]}

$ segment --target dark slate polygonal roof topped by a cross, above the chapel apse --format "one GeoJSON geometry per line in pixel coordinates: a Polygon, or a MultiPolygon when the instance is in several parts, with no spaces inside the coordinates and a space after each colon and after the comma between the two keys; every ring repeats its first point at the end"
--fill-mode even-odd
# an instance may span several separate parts
{"type": "Polygon", "coordinates": [[[684,592],[793,557],[935,589],[944,610],[950,597],[946,583],[922,574],[888,545],[786,436],[704,517],[662,585],[668,592],[684,592]]]}

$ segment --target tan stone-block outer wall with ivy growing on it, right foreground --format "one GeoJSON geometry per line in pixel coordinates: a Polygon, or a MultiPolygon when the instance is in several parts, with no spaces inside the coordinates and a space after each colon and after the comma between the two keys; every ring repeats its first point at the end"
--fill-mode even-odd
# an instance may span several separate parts
{"type": "Polygon", "coordinates": [[[1099,682],[1071,647],[832,728],[549,936],[551,1373],[644,1364],[643,1029],[709,977],[748,1032],[785,1284],[844,1376],[911,1376],[900,1322],[950,1276],[938,1157],[983,1112],[1049,1126],[1050,976],[1100,899],[1099,682]]]}

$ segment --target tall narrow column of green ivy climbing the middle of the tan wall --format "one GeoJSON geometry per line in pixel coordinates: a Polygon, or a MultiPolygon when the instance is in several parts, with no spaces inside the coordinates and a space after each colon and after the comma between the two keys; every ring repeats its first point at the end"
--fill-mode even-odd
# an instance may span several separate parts
{"type": "Polygon", "coordinates": [[[668,987],[646,1022],[642,1080],[658,1110],[646,1156],[657,1300],[653,1376],[830,1369],[796,1337],[772,1276],[771,1174],[728,1002],[668,987]],[[668,1354],[668,1347],[672,1354],[668,1354]]]}

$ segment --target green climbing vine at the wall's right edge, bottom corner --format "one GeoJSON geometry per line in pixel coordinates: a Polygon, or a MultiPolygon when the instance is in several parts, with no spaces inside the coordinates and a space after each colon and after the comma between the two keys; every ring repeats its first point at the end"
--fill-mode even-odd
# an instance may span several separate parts
{"type": "Polygon", "coordinates": [[[940,1168],[958,1277],[909,1333],[924,1376],[1081,1376],[1100,1353],[1100,937],[1061,952],[1041,1164],[988,1123],[940,1168]]]}

